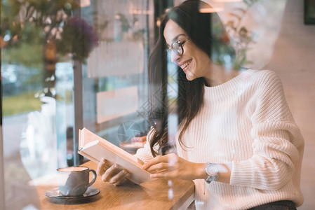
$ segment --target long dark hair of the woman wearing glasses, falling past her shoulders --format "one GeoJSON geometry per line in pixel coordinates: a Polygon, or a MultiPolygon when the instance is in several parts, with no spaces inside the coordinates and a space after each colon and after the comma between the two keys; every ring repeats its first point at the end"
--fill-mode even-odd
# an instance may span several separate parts
{"type": "MultiPolygon", "coordinates": [[[[151,110],[149,122],[153,131],[150,135],[150,148],[152,155],[165,155],[170,149],[168,144],[168,97],[167,97],[167,60],[166,40],[163,31],[168,20],[173,20],[185,30],[190,40],[201,50],[211,55],[211,30],[210,13],[199,13],[199,1],[188,0],[168,10],[159,28],[159,38],[149,57],[149,84],[151,110]],[[158,151],[155,151],[158,146],[158,151]]],[[[185,73],[178,68],[178,98],[177,113],[181,132],[179,136],[180,146],[182,136],[187,130],[189,123],[199,113],[203,106],[204,78],[187,80],[185,73]]]]}

